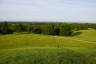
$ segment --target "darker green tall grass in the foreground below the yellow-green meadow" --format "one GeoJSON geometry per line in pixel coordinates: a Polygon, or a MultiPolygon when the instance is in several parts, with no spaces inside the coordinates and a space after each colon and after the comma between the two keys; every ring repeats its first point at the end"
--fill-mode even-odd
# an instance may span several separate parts
{"type": "Polygon", "coordinates": [[[96,64],[95,52],[56,48],[6,50],[0,52],[0,64],[96,64]]]}

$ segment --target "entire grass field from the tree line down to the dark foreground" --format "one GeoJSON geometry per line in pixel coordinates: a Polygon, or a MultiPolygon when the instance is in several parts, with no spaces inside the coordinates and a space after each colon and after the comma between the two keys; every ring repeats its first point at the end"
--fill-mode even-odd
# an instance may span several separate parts
{"type": "Polygon", "coordinates": [[[96,64],[96,30],[64,37],[0,35],[0,64],[96,64]]]}

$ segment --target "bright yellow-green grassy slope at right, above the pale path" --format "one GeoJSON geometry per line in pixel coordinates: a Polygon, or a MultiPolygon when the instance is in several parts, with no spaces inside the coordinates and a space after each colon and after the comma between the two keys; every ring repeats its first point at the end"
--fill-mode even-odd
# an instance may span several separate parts
{"type": "Polygon", "coordinates": [[[75,36],[75,38],[96,42],[96,30],[80,30],[79,32],[81,32],[81,35],[75,36]]]}

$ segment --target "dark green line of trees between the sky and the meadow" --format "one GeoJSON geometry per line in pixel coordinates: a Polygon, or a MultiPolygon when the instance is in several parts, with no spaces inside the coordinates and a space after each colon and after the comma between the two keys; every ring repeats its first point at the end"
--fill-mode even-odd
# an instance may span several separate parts
{"type": "Polygon", "coordinates": [[[0,34],[29,32],[47,35],[72,36],[74,31],[96,29],[96,24],[89,23],[0,23],[0,34]]]}

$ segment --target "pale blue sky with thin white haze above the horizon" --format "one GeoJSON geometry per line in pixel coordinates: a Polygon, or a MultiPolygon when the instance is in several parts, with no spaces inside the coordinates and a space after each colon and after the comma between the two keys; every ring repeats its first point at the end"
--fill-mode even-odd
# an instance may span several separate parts
{"type": "Polygon", "coordinates": [[[96,0],[0,0],[0,21],[96,23],[96,0]]]}

